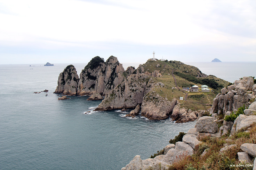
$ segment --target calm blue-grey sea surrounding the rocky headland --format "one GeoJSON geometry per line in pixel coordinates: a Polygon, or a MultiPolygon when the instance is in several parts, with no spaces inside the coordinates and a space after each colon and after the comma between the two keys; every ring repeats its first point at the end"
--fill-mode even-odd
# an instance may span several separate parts
{"type": "MultiPolygon", "coordinates": [[[[186,64],[231,82],[256,75],[255,62],[186,64]]],[[[149,158],[195,125],[127,118],[120,110],[94,112],[101,101],[87,96],[57,100],[58,75],[68,64],[29,65],[0,65],[0,169],[121,169],[135,155],[149,158]],[[45,89],[48,96],[33,93],[45,89]]],[[[79,74],[86,64],[73,65],[79,74]]],[[[123,64],[129,65],[138,66],[123,64]]]]}

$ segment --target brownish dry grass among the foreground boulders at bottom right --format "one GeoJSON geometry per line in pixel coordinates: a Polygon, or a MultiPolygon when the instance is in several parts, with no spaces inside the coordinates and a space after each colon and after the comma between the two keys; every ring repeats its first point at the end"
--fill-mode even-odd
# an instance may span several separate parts
{"type": "Polygon", "coordinates": [[[170,170],[252,170],[252,167],[230,167],[230,165],[241,164],[238,161],[238,152],[242,152],[240,146],[243,143],[256,144],[256,124],[252,125],[248,135],[234,135],[229,137],[231,140],[226,141],[228,135],[222,137],[201,136],[199,138],[202,143],[195,147],[195,152],[192,156],[185,156],[183,159],[173,163],[170,170]],[[237,146],[220,153],[225,145],[236,144],[237,146]],[[207,153],[201,156],[204,149],[207,148],[207,153]]]}

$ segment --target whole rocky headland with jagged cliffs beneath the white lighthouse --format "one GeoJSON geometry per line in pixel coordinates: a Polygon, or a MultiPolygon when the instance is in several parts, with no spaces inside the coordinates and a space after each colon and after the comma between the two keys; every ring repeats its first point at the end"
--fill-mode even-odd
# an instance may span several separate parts
{"type": "MultiPolygon", "coordinates": [[[[180,101],[183,104],[182,108],[175,107],[177,98],[185,97],[185,93],[178,87],[188,87],[191,83],[198,84],[201,80],[208,80],[205,78],[207,75],[198,68],[182,62],[148,60],[137,69],[130,66],[125,71],[117,57],[110,56],[104,62],[104,59],[96,56],[82,70],[80,79],[71,72],[63,72],[60,75],[55,92],[67,95],[90,95],[88,100],[102,100],[102,96],[105,96],[96,110],[135,108],[141,105],[142,116],[160,120],[168,118],[173,112],[172,119],[176,120],[176,123],[182,123],[195,120],[203,112],[195,111],[196,109],[207,109],[205,106],[194,107],[193,111],[187,109],[192,105],[198,105],[196,98],[189,104],[186,103],[187,101],[180,101]],[[66,81],[70,78],[72,78],[71,82],[66,81]]],[[[213,79],[221,80],[216,77],[213,79]]],[[[217,83],[215,80],[210,82],[217,83]]],[[[218,83],[224,85],[226,82],[221,80],[218,83]]]]}

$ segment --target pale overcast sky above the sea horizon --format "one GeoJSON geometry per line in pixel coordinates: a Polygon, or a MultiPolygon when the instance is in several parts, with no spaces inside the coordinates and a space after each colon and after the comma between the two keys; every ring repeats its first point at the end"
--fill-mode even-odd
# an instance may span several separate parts
{"type": "Polygon", "coordinates": [[[0,0],[0,64],[256,61],[255,0],[0,0]]]}

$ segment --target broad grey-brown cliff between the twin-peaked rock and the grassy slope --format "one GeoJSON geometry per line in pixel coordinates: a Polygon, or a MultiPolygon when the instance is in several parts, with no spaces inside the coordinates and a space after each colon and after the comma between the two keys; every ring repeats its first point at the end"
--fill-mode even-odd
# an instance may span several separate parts
{"type": "MultiPolygon", "coordinates": [[[[153,90],[158,84],[145,74],[132,74],[114,88],[95,110],[109,110],[141,106],[141,115],[153,120],[166,119],[173,111],[177,99],[168,101],[153,90]]],[[[163,83],[160,83],[160,86],[163,83]]]]}

